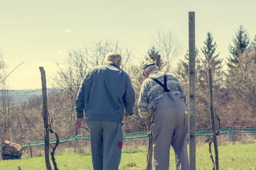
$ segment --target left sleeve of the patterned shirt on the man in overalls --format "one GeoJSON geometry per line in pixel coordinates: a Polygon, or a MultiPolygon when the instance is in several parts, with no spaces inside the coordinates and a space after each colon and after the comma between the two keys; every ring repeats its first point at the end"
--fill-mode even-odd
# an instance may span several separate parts
{"type": "Polygon", "coordinates": [[[148,117],[151,113],[148,109],[149,106],[149,99],[146,95],[146,84],[145,81],[142,84],[141,91],[139,93],[139,101],[138,101],[138,108],[139,108],[139,115],[142,118],[148,117]]]}

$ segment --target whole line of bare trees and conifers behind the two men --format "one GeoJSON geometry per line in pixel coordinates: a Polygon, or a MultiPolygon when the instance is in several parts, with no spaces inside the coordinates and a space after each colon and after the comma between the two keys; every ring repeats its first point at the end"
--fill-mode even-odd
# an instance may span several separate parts
{"type": "MultiPolygon", "coordinates": [[[[247,30],[240,26],[228,49],[230,55],[223,62],[212,33],[206,34],[203,47],[196,47],[196,128],[210,128],[208,69],[212,70],[214,111],[220,118],[220,126],[225,128],[233,125],[255,125],[256,35],[250,40],[247,30]]],[[[181,49],[171,31],[159,31],[154,38],[154,45],[137,62],[132,60],[132,50],[119,41],[91,42],[78,49],[68,50],[66,60],[57,63],[58,72],[53,77],[52,84],[55,90],[48,93],[48,114],[51,128],[60,137],[87,133],[86,125],[80,132],[75,127],[75,98],[87,71],[102,64],[105,55],[112,51],[122,55],[122,69],[129,74],[137,99],[144,81],[142,63],[147,59],[154,60],[160,71],[173,72],[188,95],[188,52],[182,60],[176,60],[176,56],[181,55],[181,49]],[[178,63],[175,69],[174,61],[178,63]]],[[[0,69],[4,69],[2,61],[0,69]]],[[[0,76],[2,79],[3,75],[0,76]]],[[[8,88],[1,85],[1,140],[21,143],[42,138],[41,96],[32,96],[24,103],[12,105],[8,88]]],[[[134,115],[123,125],[124,133],[146,132],[149,130],[150,121],[139,117],[136,101],[134,115]]]]}

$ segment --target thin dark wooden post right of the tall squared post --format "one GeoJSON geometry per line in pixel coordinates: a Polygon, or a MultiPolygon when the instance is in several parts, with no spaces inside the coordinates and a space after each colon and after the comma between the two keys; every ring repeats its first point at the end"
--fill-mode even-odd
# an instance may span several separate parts
{"type": "Polygon", "coordinates": [[[219,169],[218,166],[218,144],[217,144],[217,137],[215,132],[215,121],[214,121],[214,111],[213,111],[213,82],[212,82],[212,75],[211,70],[208,70],[209,76],[209,100],[210,100],[210,123],[212,125],[212,132],[213,132],[213,144],[215,149],[215,168],[216,170],[219,169]]]}

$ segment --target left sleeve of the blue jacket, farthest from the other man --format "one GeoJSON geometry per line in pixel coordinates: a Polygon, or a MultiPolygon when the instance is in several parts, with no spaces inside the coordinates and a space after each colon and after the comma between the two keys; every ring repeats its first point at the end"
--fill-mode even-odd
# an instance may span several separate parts
{"type": "Polygon", "coordinates": [[[84,114],[84,96],[85,96],[85,80],[82,82],[80,86],[80,91],[75,101],[75,111],[77,112],[77,118],[83,118],[84,114]]]}

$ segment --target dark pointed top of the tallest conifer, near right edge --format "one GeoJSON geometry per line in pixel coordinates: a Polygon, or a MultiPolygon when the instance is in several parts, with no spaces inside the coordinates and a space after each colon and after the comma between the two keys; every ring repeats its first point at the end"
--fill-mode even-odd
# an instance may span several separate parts
{"type": "Polygon", "coordinates": [[[247,47],[249,47],[250,39],[247,34],[247,30],[240,26],[238,32],[235,33],[235,38],[233,38],[233,45],[228,47],[230,51],[230,56],[228,57],[228,67],[233,68],[238,64],[238,57],[243,54],[247,47]]]}

